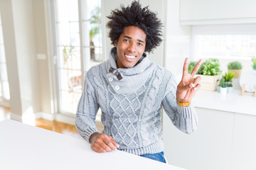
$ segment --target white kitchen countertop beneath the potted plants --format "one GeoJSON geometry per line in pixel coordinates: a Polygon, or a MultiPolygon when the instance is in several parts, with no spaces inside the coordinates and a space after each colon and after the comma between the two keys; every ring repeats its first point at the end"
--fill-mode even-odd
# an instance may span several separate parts
{"type": "Polygon", "coordinates": [[[199,90],[193,97],[192,104],[197,108],[256,115],[256,97],[241,96],[239,90],[233,90],[232,94],[226,96],[221,96],[217,91],[199,90]]]}

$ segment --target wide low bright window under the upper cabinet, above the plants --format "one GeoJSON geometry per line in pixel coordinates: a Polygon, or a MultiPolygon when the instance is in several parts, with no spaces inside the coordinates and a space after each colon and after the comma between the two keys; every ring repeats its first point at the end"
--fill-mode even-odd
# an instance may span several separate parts
{"type": "Polygon", "coordinates": [[[247,59],[256,54],[256,35],[196,35],[199,58],[247,59]]]}

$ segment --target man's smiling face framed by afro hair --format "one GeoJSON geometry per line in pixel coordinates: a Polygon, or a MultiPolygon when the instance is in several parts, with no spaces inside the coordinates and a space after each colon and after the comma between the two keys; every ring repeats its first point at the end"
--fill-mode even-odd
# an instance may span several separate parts
{"type": "Polygon", "coordinates": [[[134,67],[145,51],[146,33],[136,26],[124,27],[114,47],[117,47],[117,68],[134,67]]]}

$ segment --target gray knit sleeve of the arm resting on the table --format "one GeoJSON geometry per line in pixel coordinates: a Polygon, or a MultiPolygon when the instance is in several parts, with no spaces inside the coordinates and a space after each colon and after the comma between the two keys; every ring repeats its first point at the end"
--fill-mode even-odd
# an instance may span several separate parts
{"type": "Polygon", "coordinates": [[[78,110],[75,115],[75,126],[79,134],[89,141],[90,135],[99,132],[96,128],[95,118],[99,105],[97,103],[95,89],[90,84],[89,72],[85,75],[85,86],[78,103],[78,110]]]}

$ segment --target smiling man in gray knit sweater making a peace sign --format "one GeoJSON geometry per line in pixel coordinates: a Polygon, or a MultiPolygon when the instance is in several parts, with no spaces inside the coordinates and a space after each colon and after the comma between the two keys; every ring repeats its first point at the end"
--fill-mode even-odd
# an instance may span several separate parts
{"type": "Polygon", "coordinates": [[[174,125],[186,133],[197,128],[197,115],[190,105],[200,88],[196,74],[188,74],[188,59],[183,77],[176,86],[174,76],[151,62],[144,52],[161,43],[162,24],[156,13],[139,2],[116,9],[108,16],[110,39],[114,47],[110,60],[92,67],[85,75],[85,86],[78,104],[75,124],[95,152],[122,150],[165,162],[161,140],[161,107],[174,125]],[[102,110],[102,133],[95,125],[102,110]]]}

